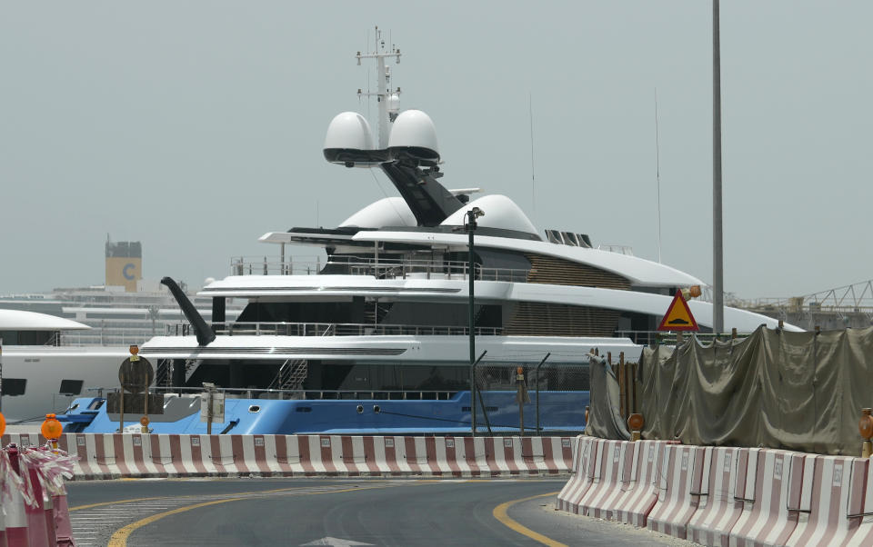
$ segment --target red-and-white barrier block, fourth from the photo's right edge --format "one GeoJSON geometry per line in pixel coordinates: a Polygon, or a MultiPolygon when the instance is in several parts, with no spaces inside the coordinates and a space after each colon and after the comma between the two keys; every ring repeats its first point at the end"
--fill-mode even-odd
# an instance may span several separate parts
{"type": "Polygon", "coordinates": [[[707,447],[705,451],[700,502],[688,522],[688,539],[728,547],[730,531],[743,512],[744,500],[748,499],[747,485],[754,491],[758,449],[751,454],[747,448],[707,447]]]}

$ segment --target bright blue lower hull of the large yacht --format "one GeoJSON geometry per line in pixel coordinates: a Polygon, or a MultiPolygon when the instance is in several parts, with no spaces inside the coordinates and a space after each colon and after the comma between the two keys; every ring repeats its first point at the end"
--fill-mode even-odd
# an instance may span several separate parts
{"type": "MultiPolygon", "coordinates": [[[[494,433],[518,432],[516,393],[483,392],[487,418],[494,433]]],[[[100,400],[76,399],[71,410],[58,415],[65,433],[115,433],[117,415],[110,417],[100,400]],[[95,410],[88,410],[89,408],[95,410]],[[112,419],[115,418],[115,419],[112,419]]],[[[539,423],[542,431],[581,432],[585,428],[588,392],[541,392],[539,423]]],[[[179,399],[186,415],[149,416],[150,433],[203,434],[198,399],[179,399]]],[[[169,407],[168,407],[169,408],[169,407]]],[[[525,430],[537,430],[536,399],[524,405],[525,430]]],[[[125,431],[138,431],[140,414],[125,415],[125,431]]],[[[468,434],[471,429],[470,393],[458,392],[447,400],[266,400],[226,399],[225,421],[213,423],[212,433],[293,434],[332,433],[355,435],[468,434]]],[[[487,432],[485,416],[477,411],[477,431],[487,432]]]]}

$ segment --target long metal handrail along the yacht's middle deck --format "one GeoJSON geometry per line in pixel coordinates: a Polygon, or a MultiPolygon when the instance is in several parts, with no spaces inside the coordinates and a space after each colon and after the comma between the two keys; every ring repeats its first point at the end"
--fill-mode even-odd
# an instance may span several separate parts
{"type": "MultiPolygon", "coordinates": [[[[469,329],[460,325],[407,325],[373,323],[284,323],[235,322],[212,323],[218,335],[227,336],[467,336],[469,329]]],[[[501,327],[476,327],[477,336],[499,336],[501,327]]],[[[194,331],[188,323],[166,325],[167,336],[188,336],[194,331]]]]}

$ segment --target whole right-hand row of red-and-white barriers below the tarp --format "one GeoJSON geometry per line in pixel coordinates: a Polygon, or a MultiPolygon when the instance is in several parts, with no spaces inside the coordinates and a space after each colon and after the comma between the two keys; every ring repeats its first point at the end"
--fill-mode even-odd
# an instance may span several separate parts
{"type": "Polygon", "coordinates": [[[557,509],[707,545],[873,545],[873,462],[577,439],[557,509]]]}

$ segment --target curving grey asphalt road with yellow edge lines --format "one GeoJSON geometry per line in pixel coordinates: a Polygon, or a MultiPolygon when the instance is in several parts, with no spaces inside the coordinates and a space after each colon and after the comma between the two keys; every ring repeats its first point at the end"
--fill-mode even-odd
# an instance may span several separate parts
{"type": "Polygon", "coordinates": [[[691,544],[556,512],[564,482],[70,482],[68,502],[81,546],[691,544]]]}

